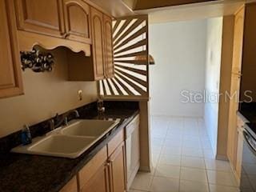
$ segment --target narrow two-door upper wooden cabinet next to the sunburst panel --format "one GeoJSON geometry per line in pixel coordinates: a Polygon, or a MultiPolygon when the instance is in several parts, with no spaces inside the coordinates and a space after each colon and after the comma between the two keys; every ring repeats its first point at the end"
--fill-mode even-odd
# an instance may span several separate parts
{"type": "Polygon", "coordinates": [[[91,57],[68,53],[70,81],[97,81],[114,77],[112,20],[90,7],[91,57]],[[76,62],[73,62],[76,61],[76,62]]]}

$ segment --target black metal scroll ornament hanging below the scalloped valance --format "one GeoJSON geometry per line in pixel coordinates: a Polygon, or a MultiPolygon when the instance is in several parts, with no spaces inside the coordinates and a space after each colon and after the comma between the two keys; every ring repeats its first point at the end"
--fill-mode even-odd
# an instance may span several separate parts
{"type": "Polygon", "coordinates": [[[52,71],[54,56],[52,54],[40,53],[39,50],[21,51],[22,70],[30,68],[34,72],[52,71]]]}

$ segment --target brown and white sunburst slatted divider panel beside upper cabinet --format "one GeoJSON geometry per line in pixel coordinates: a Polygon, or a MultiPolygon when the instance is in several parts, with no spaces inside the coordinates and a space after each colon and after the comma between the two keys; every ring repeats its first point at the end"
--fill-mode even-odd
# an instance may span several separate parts
{"type": "Polygon", "coordinates": [[[105,99],[148,99],[148,17],[118,18],[112,27],[114,78],[98,82],[99,94],[105,99]]]}

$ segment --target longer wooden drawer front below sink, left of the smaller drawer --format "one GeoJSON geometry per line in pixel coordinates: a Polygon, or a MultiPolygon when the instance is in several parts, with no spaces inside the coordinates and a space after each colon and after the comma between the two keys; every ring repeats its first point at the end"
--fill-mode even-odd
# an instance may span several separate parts
{"type": "Polygon", "coordinates": [[[82,189],[82,187],[86,185],[86,182],[88,182],[90,178],[94,176],[97,170],[106,162],[106,159],[107,150],[106,146],[104,146],[104,148],[102,148],[102,150],[100,150],[98,154],[96,154],[94,158],[92,158],[90,162],[88,162],[88,164],[79,171],[79,189],[82,189]]]}

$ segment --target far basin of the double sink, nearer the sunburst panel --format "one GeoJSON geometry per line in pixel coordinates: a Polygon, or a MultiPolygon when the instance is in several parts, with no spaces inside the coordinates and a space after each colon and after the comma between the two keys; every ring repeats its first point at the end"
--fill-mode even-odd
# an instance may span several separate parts
{"type": "Polygon", "coordinates": [[[74,120],[70,122],[70,126],[62,128],[62,134],[98,138],[112,130],[117,124],[116,121],[106,120],[74,120]]]}

